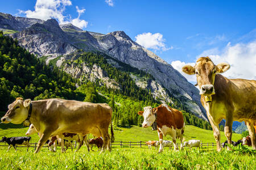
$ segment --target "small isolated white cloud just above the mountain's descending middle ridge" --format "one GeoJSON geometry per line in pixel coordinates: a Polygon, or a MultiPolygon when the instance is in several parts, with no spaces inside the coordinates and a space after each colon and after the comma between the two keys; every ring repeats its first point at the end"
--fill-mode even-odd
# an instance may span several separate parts
{"type": "Polygon", "coordinates": [[[152,34],[151,32],[147,33],[142,33],[137,36],[135,36],[136,42],[144,48],[151,48],[155,50],[170,50],[173,49],[174,47],[171,46],[170,48],[167,48],[166,44],[164,44],[164,39],[163,35],[160,33],[154,33],[152,34]]]}

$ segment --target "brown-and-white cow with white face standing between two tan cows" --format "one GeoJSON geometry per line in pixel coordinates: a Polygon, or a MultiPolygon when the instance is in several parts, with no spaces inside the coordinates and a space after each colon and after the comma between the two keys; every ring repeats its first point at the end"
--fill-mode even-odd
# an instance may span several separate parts
{"type": "Polygon", "coordinates": [[[163,151],[163,136],[166,136],[167,134],[172,137],[174,150],[179,150],[176,145],[176,138],[180,138],[180,149],[182,149],[183,133],[185,128],[183,114],[180,111],[169,107],[167,104],[161,104],[156,108],[144,107],[143,109],[144,111],[138,112],[139,115],[144,117],[144,121],[142,123],[143,128],[151,126],[156,121],[160,142],[159,152],[163,151]]]}

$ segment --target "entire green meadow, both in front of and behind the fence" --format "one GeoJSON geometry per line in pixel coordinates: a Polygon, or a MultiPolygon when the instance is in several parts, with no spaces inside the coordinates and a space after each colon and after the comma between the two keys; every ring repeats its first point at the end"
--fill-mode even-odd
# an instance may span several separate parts
{"type": "MultiPolygon", "coordinates": [[[[0,137],[16,137],[24,135],[28,128],[16,128],[17,125],[0,126],[0,137]]],[[[20,126],[22,127],[22,126],[20,126]]],[[[156,131],[151,128],[131,126],[129,128],[114,127],[115,141],[138,142],[158,140],[156,131]]],[[[214,142],[213,132],[195,126],[185,127],[185,140],[200,139],[205,142],[214,142]]],[[[32,143],[38,142],[38,135],[31,135],[32,143]]],[[[92,137],[92,135],[90,136],[92,137]]],[[[241,134],[233,134],[233,141],[241,138],[241,134]]],[[[171,139],[171,137],[164,137],[171,139]]],[[[224,133],[221,133],[221,141],[225,141],[224,133]]],[[[178,140],[178,143],[180,141],[178,140]]],[[[4,143],[0,143],[4,145],[4,143]]],[[[96,148],[94,148],[96,150],[96,148]]],[[[162,154],[152,147],[147,146],[113,146],[112,151],[100,154],[97,151],[86,150],[82,146],[79,152],[67,150],[65,154],[49,152],[46,147],[39,154],[33,154],[34,148],[26,151],[26,148],[18,147],[15,152],[11,148],[0,147],[0,169],[256,169],[255,155],[242,154],[234,151],[222,150],[216,152],[216,146],[201,148],[200,151],[185,147],[183,151],[174,152],[165,148],[162,154]]]]}

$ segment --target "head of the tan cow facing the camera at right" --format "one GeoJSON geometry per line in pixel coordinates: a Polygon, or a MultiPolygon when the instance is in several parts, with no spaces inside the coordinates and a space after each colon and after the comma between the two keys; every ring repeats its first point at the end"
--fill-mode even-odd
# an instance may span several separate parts
{"type": "Polygon", "coordinates": [[[206,102],[210,102],[211,95],[215,94],[213,85],[216,74],[224,73],[229,68],[230,65],[228,63],[214,65],[209,57],[200,57],[197,59],[195,66],[183,66],[182,71],[189,75],[196,74],[200,95],[204,95],[206,102]]]}

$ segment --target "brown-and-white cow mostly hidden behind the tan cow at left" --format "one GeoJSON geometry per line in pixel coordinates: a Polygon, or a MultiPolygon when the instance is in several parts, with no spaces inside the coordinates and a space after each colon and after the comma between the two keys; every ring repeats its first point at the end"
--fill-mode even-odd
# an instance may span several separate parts
{"type": "MultiPolygon", "coordinates": [[[[37,132],[37,131],[36,131],[35,126],[34,126],[33,124],[31,124],[31,125],[30,125],[30,128],[28,128],[28,130],[27,130],[26,135],[31,135],[31,134],[34,134],[34,133],[36,133],[36,132],[37,132]]],[[[79,143],[79,146],[77,147],[77,149],[76,149],[75,152],[77,152],[77,151],[81,148],[81,146],[82,146],[83,143],[85,143],[85,145],[86,145],[86,147],[87,147],[87,149],[88,149],[88,151],[89,151],[89,143],[88,143],[88,141],[86,140],[86,135],[85,135],[84,137],[82,137],[82,136],[80,136],[79,134],[63,133],[63,136],[64,136],[63,139],[66,140],[66,141],[76,141],[77,143],[79,143]]],[[[40,134],[39,134],[39,137],[40,137],[40,134]]],[[[50,148],[49,148],[50,151],[56,151],[56,145],[53,145],[53,146],[55,146],[53,150],[52,150],[52,148],[51,148],[53,142],[55,142],[56,139],[57,139],[57,137],[55,137],[55,138],[53,138],[53,139],[51,139],[51,138],[49,139],[49,141],[52,142],[50,145],[48,144],[48,146],[50,147],[50,148]]],[[[60,139],[59,139],[59,140],[60,140],[60,139]]],[[[69,145],[69,143],[68,143],[68,142],[65,142],[65,143],[64,143],[64,145],[65,145],[65,147],[67,148],[67,146],[69,145]],[[66,143],[66,144],[65,144],[65,143],[66,143]]],[[[71,148],[72,148],[72,146],[71,146],[71,148]]],[[[73,150],[73,148],[72,148],[72,150],[73,150]]]]}

